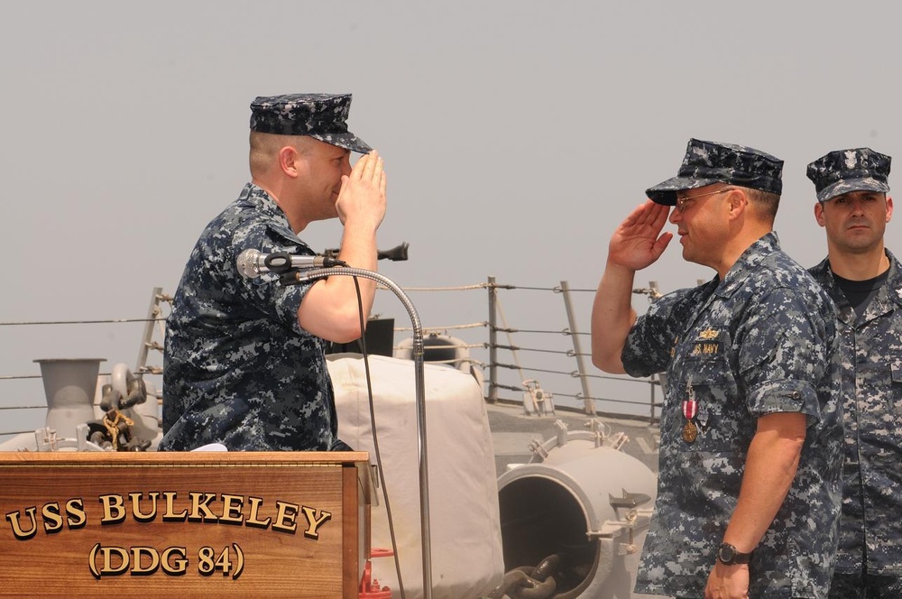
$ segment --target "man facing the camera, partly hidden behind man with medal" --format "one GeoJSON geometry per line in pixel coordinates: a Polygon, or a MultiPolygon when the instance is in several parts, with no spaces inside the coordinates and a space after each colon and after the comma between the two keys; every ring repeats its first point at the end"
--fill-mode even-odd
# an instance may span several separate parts
{"type": "Polygon", "coordinates": [[[836,304],[845,465],[830,596],[902,597],[902,265],[884,247],[891,159],[870,148],[808,165],[827,257],[810,271],[836,304]]]}

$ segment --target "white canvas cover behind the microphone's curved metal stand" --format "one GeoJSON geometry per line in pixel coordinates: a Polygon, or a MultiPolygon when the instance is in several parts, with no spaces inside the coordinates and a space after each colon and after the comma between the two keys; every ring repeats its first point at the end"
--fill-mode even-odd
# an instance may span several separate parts
{"type": "MultiPolygon", "coordinates": [[[[423,596],[420,553],[419,440],[414,363],[371,355],[373,401],[401,577],[408,597],[423,596]]],[[[328,356],[336,392],[338,437],[373,453],[364,361],[328,356]]],[[[504,574],[498,484],[483,392],[474,377],[425,364],[432,596],[461,599],[487,594],[504,574]]],[[[391,548],[382,499],[372,511],[373,548],[391,548]]],[[[400,597],[392,558],[373,559],[373,576],[400,597]]]]}

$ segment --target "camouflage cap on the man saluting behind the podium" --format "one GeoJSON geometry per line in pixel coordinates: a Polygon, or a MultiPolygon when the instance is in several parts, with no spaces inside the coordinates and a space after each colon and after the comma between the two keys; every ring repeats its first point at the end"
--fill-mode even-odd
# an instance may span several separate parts
{"type": "Polygon", "coordinates": [[[256,97],[251,103],[251,131],[308,135],[351,152],[372,148],[347,130],[351,94],[286,94],[256,97]]]}

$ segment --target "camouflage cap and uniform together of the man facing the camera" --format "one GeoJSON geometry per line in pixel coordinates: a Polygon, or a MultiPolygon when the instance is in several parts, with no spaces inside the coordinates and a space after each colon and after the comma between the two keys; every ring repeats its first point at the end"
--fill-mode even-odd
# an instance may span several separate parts
{"type": "MultiPolygon", "coordinates": [[[[819,202],[887,193],[891,162],[870,148],[837,150],[808,164],[806,175],[819,202]]],[[[833,298],[841,337],[846,437],[835,599],[902,597],[902,264],[884,251],[889,270],[861,315],[829,258],[810,269],[833,298]]]]}

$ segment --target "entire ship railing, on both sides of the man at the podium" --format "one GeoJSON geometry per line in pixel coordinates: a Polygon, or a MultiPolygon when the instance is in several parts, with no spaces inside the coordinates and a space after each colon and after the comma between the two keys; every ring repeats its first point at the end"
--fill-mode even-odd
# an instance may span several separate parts
{"type": "MultiPolygon", "coordinates": [[[[658,423],[661,406],[661,383],[658,376],[632,378],[608,375],[597,370],[583,344],[589,343],[589,316],[594,289],[571,288],[567,281],[547,287],[502,284],[489,277],[483,283],[457,287],[403,287],[414,303],[420,293],[438,293],[443,296],[462,293],[471,296],[465,300],[457,296],[440,311],[446,315],[446,324],[431,324],[428,313],[420,311],[424,334],[455,336],[457,347],[465,350],[464,357],[454,360],[432,360],[430,348],[425,348],[427,362],[462,363],[483,373],[483,394],[486,401],[497,403],[526,403],[529,393],[540,385],[548,398],[554,399],[557,410],[583,412],[589,416],[603,416],[658,423]],[[486,302],[486,299],[488,300],[486,302]],[[502,308],[503,304],[503,308],[502,308]],[[540,316],[537,316],[540,315],[540,316]],[[541,322],[541,327],[514,327],[509,322],[541,322]],[[454,318],[460,318],[456,324],[454,318]],[[587,365],[588,364],[588,365],[587,365]],[[642,391],[642,388],[645,391],[642,391]]],[[[657,288],[635,290],[654,299],[657,288]]],[[[423,301],[424,305],[441,305],[440,301],[423,301]]],[[[133,372],[156,377],[154,386],[158,401],[165,401],[162,388],[162,349],[165,320],[171,305],[171,297],[161,288],[152,290],[150,308],[144,318],[115,318],[106,320],[44,320],[0,322],[4,327],[56,327],[68,326],[109,327],[138,325],[143,327],[138,359],[133,372]]],[[[410,327],[393,327],[395,338],[410,335],[410,327]]],[[[108,332],[98,333],[93,345],[103,341],[108,332]]],[[[82,336],[89,336],[84,335],[82,336]]],[[[394,349],[400,349],[394,345],[394,349]]],[[[44,355],[33,356],[35,358],[44,355]]],[[[112,367],[114,361],[104,364],[112,367]]],[[[0,413],[23,413],[20,419],[4,418],[0,426],[0,440],[22,432],[33,432],[42,426],[41,420],[47,408],[41,401],[41,375],[38,365],[34,372],[0,374],[0,390],[4,385],[18,384],[15,392],[0,392],[0,413]],[[18,400],[17,398],[29,398],[18,400]],[[16,422],[23,424],[16,425],[16,422]],[[12,425],[12,426],[11,426],[12,425]],[[33,425],[33,426],[32,426],[33,425]]],[[[108,374],[108,372],[101,374],[108,374]]]]}

